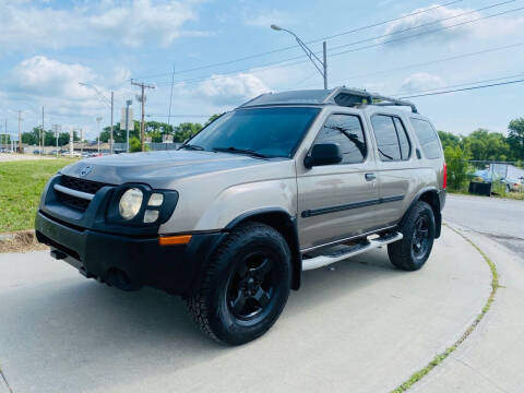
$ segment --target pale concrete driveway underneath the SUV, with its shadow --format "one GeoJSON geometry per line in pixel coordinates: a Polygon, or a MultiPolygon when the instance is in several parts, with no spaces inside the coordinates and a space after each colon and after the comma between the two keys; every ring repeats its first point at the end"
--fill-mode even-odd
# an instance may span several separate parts
{"type": "Polygon", "coordinates": [[[176,297],[109,288],[47,252],[0,254],[0,367],[15,393],[385,392],[461,336],[490,291],[487,264],[448,228],[419,272],[385,250],[334,266],[307,272],[269,334],[231,348],[176,297]]]}

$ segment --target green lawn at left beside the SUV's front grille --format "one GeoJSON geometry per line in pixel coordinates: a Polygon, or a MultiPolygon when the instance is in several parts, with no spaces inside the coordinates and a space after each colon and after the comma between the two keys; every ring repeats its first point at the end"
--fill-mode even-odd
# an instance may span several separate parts
{"type": "Polygon", "coordinates": [[[71,159],[0,163],[0,233],[31,229],[47,180],[71,159]]]}

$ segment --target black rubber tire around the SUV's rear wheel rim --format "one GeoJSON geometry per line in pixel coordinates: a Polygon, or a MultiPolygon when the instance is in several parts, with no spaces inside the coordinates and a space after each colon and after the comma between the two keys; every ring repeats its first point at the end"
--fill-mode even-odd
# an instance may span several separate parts
{"type": "Polygon", "coordinates": [[[398,269],[416,271],[424,266],[433,247],[436,224],[431,206],[422,201],[413,205],[398,224],[398,231],[404,235],[402,240],[388,245],[390,261],[398,269]],[[417,225],[422,219],[427,223],[428,237],[424,245],[424,252],[417,253],[415,246],[417,225]]]}

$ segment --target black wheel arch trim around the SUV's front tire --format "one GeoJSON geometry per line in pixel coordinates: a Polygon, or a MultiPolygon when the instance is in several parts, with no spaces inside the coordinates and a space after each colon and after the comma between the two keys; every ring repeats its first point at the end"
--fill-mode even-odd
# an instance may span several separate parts
{"type": "Polygon", "coordinates": [[[302,259],[298,240],[297,217],[291,216],[282,207],[260,209],[241,214],[226,226],[226,230],[233,230],[236,226],[247,222],[269,225],[286,239],[291,251],[291,289],[298,290],[302,274],[302,259]]]}

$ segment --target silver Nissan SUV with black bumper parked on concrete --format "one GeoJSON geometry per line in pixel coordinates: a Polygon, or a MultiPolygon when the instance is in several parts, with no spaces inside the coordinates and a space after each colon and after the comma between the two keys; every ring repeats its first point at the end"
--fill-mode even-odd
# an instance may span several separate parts
{"type": "Polygon", "coordinates": [[[420,269],[445,177],[412,103],[344,87],[264,94],[178,151],[63,168],[36,234],[84,276],[181,295],[203,332],[242,344],[272,326],[302,271],[385,245],[393,265],[420,269]]]}

